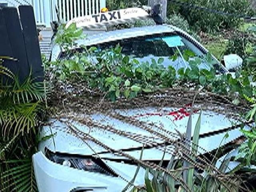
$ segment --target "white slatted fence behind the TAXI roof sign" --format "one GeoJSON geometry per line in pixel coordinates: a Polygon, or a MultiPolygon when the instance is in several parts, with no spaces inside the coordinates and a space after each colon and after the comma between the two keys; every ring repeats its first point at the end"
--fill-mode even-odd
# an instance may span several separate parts
{"type": "Polygon", "coordinates": [[[57,20],[55,7],[59,11],[60,20],[68,22],[78,16],[97,14],[106,6],[106,0],[0,0],[8,6],[32,5],[37,25],[50,26],[57,20]]]}

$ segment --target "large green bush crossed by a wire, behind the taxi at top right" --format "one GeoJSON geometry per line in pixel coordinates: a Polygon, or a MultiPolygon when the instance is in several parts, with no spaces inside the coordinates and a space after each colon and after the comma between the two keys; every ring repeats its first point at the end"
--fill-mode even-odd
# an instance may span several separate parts
{"type": "MultiPolygon", "coordinates": [[[[238,15],[247,14],[250,11],[248,0],[184,0],[184,2],[238,15]]],[[[172,7],[176,8],[176,6],[175,3],[170,3],[169,8],[171,10],[168,12],[174,12],[172,7]]],[[[234,16],[209,13],[195,8],[180,6],[176,10],[188,20],[190,26],[203,32],[216,32],[222,28],[235,28],[241,22],[240,18],[234,18],[234,16]]]]}

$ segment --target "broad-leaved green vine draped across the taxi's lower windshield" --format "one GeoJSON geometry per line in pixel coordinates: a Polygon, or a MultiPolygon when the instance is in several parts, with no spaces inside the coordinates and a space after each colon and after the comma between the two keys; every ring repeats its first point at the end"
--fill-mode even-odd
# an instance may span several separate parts
{"type": "MultiPolygon", "coordinates": [[[[101,52],[95,47],[84,48],[83,52],[74,52],[70,57],[52,62],[52,71],[61,80],[83,80],[89,88],[105,92],[112,101],[120,96],[134,98],[141,92],[153,92],[158,88],[187,82],[204,86],[216,93],[232,95],[238,92],[241,96],[252,96],[247,74],[238,70],[236,78],[230,74],[217,76],[213,67],[216,61],[210,54],[198,57],[184,50],[183,57],[189,67],[176,71],[172,66],[165,68],[162,65],[163,58],[140,63],[124,56],[121,51],[119,45],[101,52]]],[[[174,61],[178,55],[169,59],[174,61]]]]}

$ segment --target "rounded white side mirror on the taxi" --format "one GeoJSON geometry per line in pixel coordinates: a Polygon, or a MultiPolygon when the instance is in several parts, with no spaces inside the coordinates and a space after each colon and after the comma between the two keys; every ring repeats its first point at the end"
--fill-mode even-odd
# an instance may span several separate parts
{"type": "Polygon", "coordinates": [[[236,68],[240,68],[243,64],[242,58],[237,54],[225,55],[223,60],[226,69],[230,72],[234,72],[236,68]]]}

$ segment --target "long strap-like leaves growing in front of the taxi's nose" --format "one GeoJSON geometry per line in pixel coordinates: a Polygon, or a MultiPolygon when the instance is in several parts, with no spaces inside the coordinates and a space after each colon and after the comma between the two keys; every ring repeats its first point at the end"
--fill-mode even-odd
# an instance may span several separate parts
{"type": "MultiPolygon", "coordinates": [[[[190,115],[191,118],[191,115],[190,115]]],[[[194,129],[194,136],[193,141],[191,141],[191,136],[189,136],[186,140],[186,143],[191,143],[191,149],[194,154],[197,154],[198,152],[198,140],[199,140],[199,132],[200,132],[200,124],[201,124],[201,114],[198,117],[195,129],[194,129]]],[[[191,120],[188,120],[188,128],[191,130],[191,120]]],[[[190,146],[190,144],[188,145],[190,146]]],[[[214,156],[215,159],[212,160],[212,165],[215,165],[218,159],[218,156],[214,156]]],[[[162,166],[162,162],[164,159],[164,154],[162,157],[162,160],[159,164],[159,166],[162,166]]],[[[224,158],[224,160],[221,163],[220,166],[220,172],[225,173],[227,169],[227,165],[230,162],[230,158],[224,158]]],[[[195,192],[227,192],[228,189],[226,188],[223,183],[216,180],[213,176],[211,176],[210,170],[207,168],[205,169],[204,174],[198,173],[198,170],[196,170],[194,167],[191,166],[188,170],[181,169],[180,165],[182,162],[179,162],[179,160],[175,160],[174,156],[170,159],[167,170],[172,170],[173,174],[177,178],[181,178],[182,175],[185,177],[184,181],[186,181],[186,184],[190,188],[191,191],[195,192]]],[[[188,166],[190,164],[188,163],[188,166]]],[[[155,171],[153,169],[146,169],[145,173],[145,186],[147,192],[180,192],[184,191],[182,188],[182,184],[175,182],[174,178],[172,176],[169,176],[167,174],[164,174],[162,172],[155,171]],[[152,179],[149,178],[149,174],[153,176],[152,179]]],[[[236,187],[233,188],[232,191],[238,191],[236,187]]],[[[133,188],[133,191],[136,191],[136,187],[133,188]]]]}

